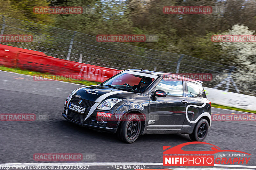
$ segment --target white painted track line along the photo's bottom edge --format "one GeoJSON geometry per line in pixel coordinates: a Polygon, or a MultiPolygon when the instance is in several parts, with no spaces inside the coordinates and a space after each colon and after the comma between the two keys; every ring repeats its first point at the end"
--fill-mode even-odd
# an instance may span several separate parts
{"type": "MultiPolygon", "coordinates": [[[[2,166],[111,166],[111,165],[160,165],[163,163],[152,163],[152,162],[54,162],[54,163],[4,163],[2,166]]],[[[256,168],[256,166],[247,165],[221,165],[214,164],[214,166],[220,167],[241,167],[241,168],[256,168]]],[[[163,167],[164,168],[164,167],[163,167]]],[[[198,169],[198,168],[197,168],[198,169]]]]}

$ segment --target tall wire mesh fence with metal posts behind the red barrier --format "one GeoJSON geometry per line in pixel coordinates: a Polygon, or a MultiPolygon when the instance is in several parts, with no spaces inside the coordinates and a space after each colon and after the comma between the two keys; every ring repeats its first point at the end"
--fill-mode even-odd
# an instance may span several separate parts
{"type": "MultiPolygon", "coordinates": [[[[239,92],[237,89],[240,89],[239,84],[237,87],[229,85],[234,69],[231,66],[124,43],[97,42],[96,37],[91,35],[5,16],[0,16],[0,26],[2,27],[1,35],[33,35],[31,42],[1,42],[4,45],[36,50],[65,60],[123,70],[143,67],[159,72],[212,74],[211,81],[204,81],[205,87],[232,92],[239,92]],[[222,86],[223,83],[220,84],[220,82],[227,85],[222,86]]],[[[236,80],[233,82],[236,83],[236,80]]]]}

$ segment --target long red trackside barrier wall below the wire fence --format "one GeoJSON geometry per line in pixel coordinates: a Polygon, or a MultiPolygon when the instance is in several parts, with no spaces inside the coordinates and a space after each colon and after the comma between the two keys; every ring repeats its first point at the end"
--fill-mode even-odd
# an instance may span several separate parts
{"type": "Polygon", "coordinates": [[[56,75],[79,75],[84,80],[103,82],[121,72],[114,68],[99,67],[47,56],[42,52],[0,45],[0,65],[19,67],[56,75]]]}

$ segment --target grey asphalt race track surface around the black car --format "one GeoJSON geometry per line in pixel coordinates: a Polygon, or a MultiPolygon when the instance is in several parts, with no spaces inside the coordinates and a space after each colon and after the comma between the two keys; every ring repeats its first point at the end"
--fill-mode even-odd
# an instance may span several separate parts
{"type": "MultiPolygon", "coordinates": [[[[47,120],[0,121],[0,163],[43,163],[34,153],[83,153],[94,155],[83,162],[163,162],[163,146],[190,142],[185,134],[147,134],[126,144],[115,134],[93,131],[66,121],[61,113],[66,97],[81,85],[61,81],[34,81],[32,76],[0,71],[0,113],[34,113],[47,120]]],[[[212,108],[213,114],[243,113],[212,108]]],[[[204,142],[221,149],[252,154],[248,166],[256,166],[256,122],[212,123],[204,142]]],[[[184,149],[201,151],[208,146],[184,149]]],[[[80,161],[81,162],[81,161],[80,161]]],[[[168,168],[146,166],[146,169],[168,168]]],[[[173,167],[174,168],[174,167],[173,167]]],[[[177,168],[177,167],[176,167],[177,168]]],[[[110,169],[90,167],[89,169],[110,169]]]]}

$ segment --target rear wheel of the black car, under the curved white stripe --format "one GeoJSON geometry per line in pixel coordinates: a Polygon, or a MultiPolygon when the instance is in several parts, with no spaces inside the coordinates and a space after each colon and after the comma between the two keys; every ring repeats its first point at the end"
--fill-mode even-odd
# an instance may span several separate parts
{"type": "Polygon", "coordinates": [[[208,121],[205,119],[200,119],[197,122],[193,133],[189,134],[189,138],[193,141],[202,142],[207,135],[208,129],[209,129],[208,121]]]}

